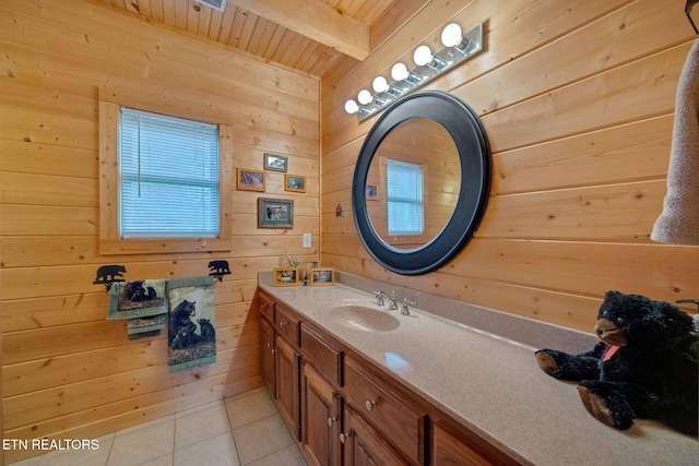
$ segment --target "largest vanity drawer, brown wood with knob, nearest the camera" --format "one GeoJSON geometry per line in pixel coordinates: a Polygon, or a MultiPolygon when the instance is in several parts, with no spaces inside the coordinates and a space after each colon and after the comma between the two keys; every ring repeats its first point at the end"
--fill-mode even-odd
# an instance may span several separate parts
{"type": "Polygon", "coordinates": [[[379,387],[374,377],[351,357],[345,358],[345,399],[363,418],[411,462],[424,464],[425,414],[400,401],[390,389],[379,387]]]}

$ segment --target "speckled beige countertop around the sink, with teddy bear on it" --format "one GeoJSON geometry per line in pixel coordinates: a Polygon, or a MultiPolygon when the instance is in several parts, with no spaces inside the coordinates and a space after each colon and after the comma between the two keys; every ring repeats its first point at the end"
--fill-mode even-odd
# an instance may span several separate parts
{"type": "Polygon", "coordinates": [[[594,419],[577,383],[538,368],[538,348],[418,309],[401,315],[388,310],[388,300],[379,308],[370,294],[340,284],[260,286],[523,464],[699,465],[695,438],[650,420],[618,431],[594,419]],[[400,325],[351,328],[329,312],[347,304],[382,309],[400,325]]]}

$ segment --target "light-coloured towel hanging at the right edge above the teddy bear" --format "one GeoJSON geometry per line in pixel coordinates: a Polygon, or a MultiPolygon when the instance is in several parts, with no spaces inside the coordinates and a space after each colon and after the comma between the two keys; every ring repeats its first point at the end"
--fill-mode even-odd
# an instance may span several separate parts
{"type": "Polygon", "coordinates": [[[653,241],[699,244],[699,40],[679,75],[663,213],[653,241]]]}

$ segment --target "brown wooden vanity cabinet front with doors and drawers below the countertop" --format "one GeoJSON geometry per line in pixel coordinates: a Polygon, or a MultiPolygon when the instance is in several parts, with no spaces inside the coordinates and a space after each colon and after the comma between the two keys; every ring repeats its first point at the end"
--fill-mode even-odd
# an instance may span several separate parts
{"type": "Polygon", "coordinates": [[[518,464],[292,309],[258,295],[262,379],[309,464],[518,464]]]}

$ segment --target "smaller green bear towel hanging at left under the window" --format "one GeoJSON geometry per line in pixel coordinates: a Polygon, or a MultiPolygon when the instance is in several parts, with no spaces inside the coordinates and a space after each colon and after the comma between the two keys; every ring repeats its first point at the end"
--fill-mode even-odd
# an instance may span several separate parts
{"type": "Polygon", "coordinates": [[[109,289],[107,320],[146,318],[166,312],[165,280],[117,282],[109,289]]]}

